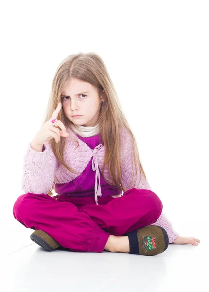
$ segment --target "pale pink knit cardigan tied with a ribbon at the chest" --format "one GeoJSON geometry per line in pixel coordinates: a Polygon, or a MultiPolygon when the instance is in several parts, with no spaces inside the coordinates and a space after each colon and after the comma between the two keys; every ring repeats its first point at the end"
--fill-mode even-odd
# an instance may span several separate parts
{"type": "MultiPolygon", "coordinates": [[[[85,142],[79,139],[75,133],[66,128],[69,133],[69,138],[66,138],[66,146],[64,150],[64,159],[70,168],[78,171],[81,174],[87,167],[91,157],[93,156],[93,150],[87,146],[85,142]],[[79,145],[77,147],[78,141],[79,145]]],[[[140,171],[138,169],[137,180],[134,186],[130,186],[133,173],[132,173],[132,161],[133,161],[133,149],[130,143],[130,134],[123,128],[120,129],[120,162],[122,169],[122,182],[125,191],[130,188],[149,189],[151,187],[145,180],[144,176],[141,177],[141,182],[137,186],[140,180],[140,171]]],[[[47,194],[51,189],[53,182],[56,183],[69,183],[74,180],[78,175],[69,172],[66,168],[60,165],[52,152],[50,143],[47,141],[44,143],[45,150],[43,152],[36,152],[31,148],[31,142],[29,143],[26,154],[24,156],[23,176],[22,176],[22,189],[25,193],[34,194],[47,194]]],[[[97,146],[98,147],[98,146],[97,146]]],[[[96,151],[96,168],[102,173],[102,166],[104,161],[105,146],[100,146],[100,150],[96,151]]],[[[99,173],[99,171],[96,171],[99,173]]],[[[136,169],[134,168],[136,175],[136,169]]],[[[108,172],[107,165],[104,168],[104,178],[109,183],[113,183],[108,172]]],[[[95,180],[96,183],[97,179],[95,180]]],[[[98,189],[100,185],[98,186],[98,189]]],[[[97,196],[95,192],[95,196],[97,196]]],[[[101,195],[101,194],[99,194],[101,195]]],[[[119,195],[121,196],[121,195],[119,195]]],[[[173,243],[179,234],[174,231],[171,222],[166,216],[161,213],[160,217],[152,225],[158,225],[163,227],[169,236],[169,243],[173,243]]]]}

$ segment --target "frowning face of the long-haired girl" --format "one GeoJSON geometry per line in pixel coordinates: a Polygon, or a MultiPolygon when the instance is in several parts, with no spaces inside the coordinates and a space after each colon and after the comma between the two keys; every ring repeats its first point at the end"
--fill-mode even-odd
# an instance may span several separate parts
{"type": "Polygon", "coordinates": [[[66,117],[75,125],[95,126],[99,116],[101,98],[90,83],[71,78],[61,94],[66,117]],[[73,117],[74,115],[80,115],[73,117]]]}

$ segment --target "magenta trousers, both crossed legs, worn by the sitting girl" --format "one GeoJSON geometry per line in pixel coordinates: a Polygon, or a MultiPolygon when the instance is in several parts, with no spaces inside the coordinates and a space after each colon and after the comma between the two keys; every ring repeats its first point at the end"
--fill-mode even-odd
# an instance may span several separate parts
{"type": "Polygon", "coordinates": [[[160,198],[151,190],[130,189],[119,198],[69,197],[26,193],[17,198],[13,215],[27,228],[43,230],[62,247],[75,252],[103,252],[110,234],[151,225],[162,213],[160,198]],[[56,200],[57,199],[57,200],[56,200]]]}

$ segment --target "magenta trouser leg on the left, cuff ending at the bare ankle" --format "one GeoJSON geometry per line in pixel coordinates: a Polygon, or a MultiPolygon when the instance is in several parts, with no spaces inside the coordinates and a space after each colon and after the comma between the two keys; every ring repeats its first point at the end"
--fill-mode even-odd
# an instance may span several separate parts
{"type": "MultiPolygon", "coordinates": [[[[76,198],[76,203],[85,205],[85,198],[76,198]]],[[[102,252],[110,235],[73,203],[46,194],[19,196],[13,215],[26,228],[43,230],[62,247],[75,252],[102,252]]]]}

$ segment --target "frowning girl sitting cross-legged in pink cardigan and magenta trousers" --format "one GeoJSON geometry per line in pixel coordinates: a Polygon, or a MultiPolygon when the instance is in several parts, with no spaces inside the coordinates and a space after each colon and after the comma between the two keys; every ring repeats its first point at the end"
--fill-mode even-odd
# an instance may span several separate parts
{"type": "Polygon", "coordinates": [[[162,213],[95,53],[70,55],[59,65],[46,119],[24,157],[22,189],[13,215],[35,229],[30,238],[49,251],[153,256],[169,243],[200,242],[179,236],[162,213]]]}

